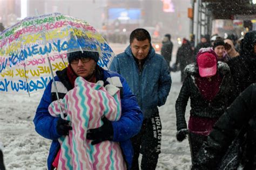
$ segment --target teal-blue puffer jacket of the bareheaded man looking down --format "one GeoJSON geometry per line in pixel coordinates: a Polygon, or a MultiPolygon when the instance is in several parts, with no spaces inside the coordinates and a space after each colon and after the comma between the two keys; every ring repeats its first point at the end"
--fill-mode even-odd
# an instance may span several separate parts
{"type": "Polygon", "coordinates": [[[171,89],[171,76],[164,57],[157,54],[152,46],[142,72],[139,72],[130,46],[113,59],[110,70],[124,76],[137,97],[144,118],[151,117],[158,111],[157,106],[165,104],[171,89]]]}

